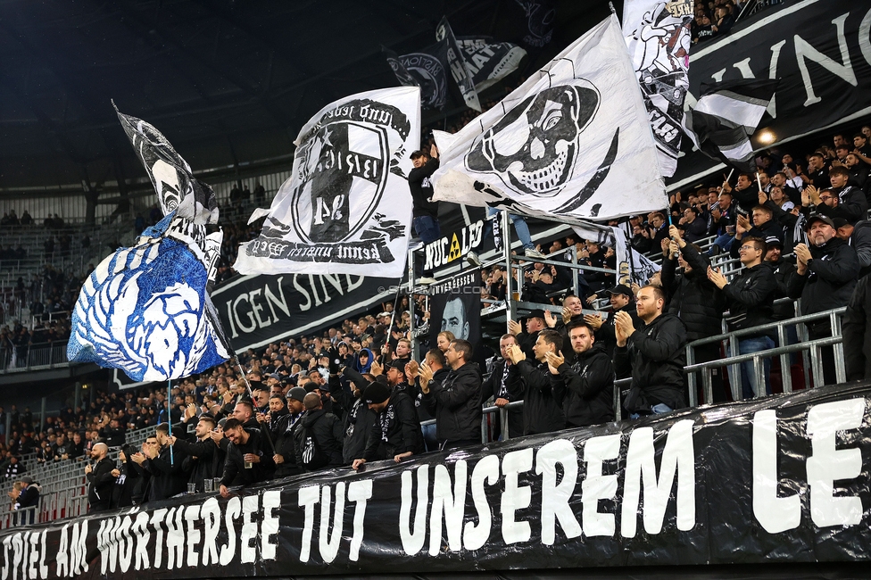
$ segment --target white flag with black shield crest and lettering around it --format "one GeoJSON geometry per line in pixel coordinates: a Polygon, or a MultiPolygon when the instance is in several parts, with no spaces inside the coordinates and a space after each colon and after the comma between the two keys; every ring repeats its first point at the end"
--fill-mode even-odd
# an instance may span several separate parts
{"type": "Polygon", "coordinates": [[[328,104],[300,130],[294,170],[239,249],[243,274],[399,278],[411,224],[406,175],[420,142],[420,89],[386,88],[328,104]],[[377,269],[373,270],[373,266],[377,269]]]}

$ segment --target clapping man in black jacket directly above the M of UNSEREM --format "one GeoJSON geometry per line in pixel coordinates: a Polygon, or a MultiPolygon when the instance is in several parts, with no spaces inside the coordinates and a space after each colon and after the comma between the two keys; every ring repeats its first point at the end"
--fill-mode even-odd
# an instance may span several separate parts
{"type": "Polygon", "coordinates": [[[681,409],[684,402],[686,327],[663,313],[666,297],[659,286],[643,286],[635,295],[642,325],[635,328],[626,312],[617,315],[614,367],[632,369],[632,387],[624,406],[631,418],[681,409]]]}

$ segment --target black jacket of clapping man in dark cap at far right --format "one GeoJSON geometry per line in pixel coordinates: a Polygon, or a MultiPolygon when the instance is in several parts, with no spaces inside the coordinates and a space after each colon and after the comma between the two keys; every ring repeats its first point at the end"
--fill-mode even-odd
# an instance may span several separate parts
{"type": "MultiPolygon", "coordinates": [[[[813,256],[804,275],[798,272],[788,283],[790,297],[801,298],[801,314],[829,311],[850,302],[859,278],[856,251],[842,239],[833,237],[822,247],[810,244],[813,256]]],[[[825,329],[827,321],[810,325],[825,329]]]]}

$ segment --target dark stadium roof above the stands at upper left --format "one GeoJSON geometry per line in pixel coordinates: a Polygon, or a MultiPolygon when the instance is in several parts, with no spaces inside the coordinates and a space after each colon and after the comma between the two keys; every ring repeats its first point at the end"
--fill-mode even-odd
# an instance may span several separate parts
{"type": "MultiPolygon", "coordinates": [[[[603,0],[552,4],[552,42],[527,47],[527,70],[609,13],[603,0]]],[[[287,163],[325,104],[397,86],[381,46],[428,46],[443,15],[458,36],[520,44],[527,33],[519,0],[0,0],[0,12],[7,192],[143,178],[111,99],[161,129],[195,170],[232,174],[287,163]]]]}

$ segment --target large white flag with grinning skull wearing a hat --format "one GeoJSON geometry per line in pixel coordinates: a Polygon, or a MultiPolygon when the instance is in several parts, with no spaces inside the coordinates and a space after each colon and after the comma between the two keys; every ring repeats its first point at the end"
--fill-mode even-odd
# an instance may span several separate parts
{"type": "Polygon", "coordinates": [[[459,133],[434,135],[436,200],[576,222],[668,205],[613,15],[459,133]]]}

